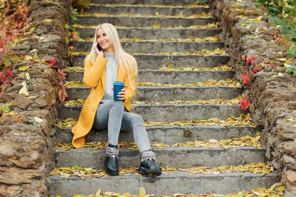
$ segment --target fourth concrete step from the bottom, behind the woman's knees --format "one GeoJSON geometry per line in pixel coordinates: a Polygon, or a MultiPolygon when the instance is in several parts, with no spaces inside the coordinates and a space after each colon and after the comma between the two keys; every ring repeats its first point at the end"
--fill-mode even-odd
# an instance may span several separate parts
{"type": "MultiPolygon", "coordinates": [[[[58,118],[78,119],[82,106],[62,106],[58,108],[58,118]]],[[[131,111],[143,117],[144,121],[176,122],[183,120],[206,120],[218,117],[225,120],[228,115],[246,114],[240,105],[226,104],[132,104],[131,111]],[[149,112],[149,113],[148,113],[149,112]]]]}

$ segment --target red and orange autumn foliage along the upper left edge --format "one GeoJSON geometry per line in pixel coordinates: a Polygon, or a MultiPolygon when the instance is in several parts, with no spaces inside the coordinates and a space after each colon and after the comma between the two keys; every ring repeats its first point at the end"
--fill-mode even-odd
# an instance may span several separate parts
{"type": "Polygon", "coordinates": [[[29,27],[28,0],[0,0],[0,94],[13,78],[13,66],[23,56],[12,49],[29,27]]]}

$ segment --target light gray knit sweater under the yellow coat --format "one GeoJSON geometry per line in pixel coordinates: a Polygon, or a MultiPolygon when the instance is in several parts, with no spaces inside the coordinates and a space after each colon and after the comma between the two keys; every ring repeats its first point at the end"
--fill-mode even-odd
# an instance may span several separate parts
{"type": "Polygon", "coordinates": [[[104,58],[108,60],[106,64],[106,87],[105,94],[101,102],[106,102],[108,100],[113,100],[113,82],[117,81],[117,62],[115,61],[114,52],[107,53],[104,51],[104,58]]]}

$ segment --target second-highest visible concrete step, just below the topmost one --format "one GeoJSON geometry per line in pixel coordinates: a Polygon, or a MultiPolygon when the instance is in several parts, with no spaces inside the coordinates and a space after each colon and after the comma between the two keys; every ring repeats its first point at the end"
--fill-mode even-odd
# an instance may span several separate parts
{"type": "Polygon", "coordinates": [[[106,13],[106,14],[147,14],[155,15],[158,12],[159,15],[179,15],[181,12],[188,16],[194,14],[201,14],[202,12],[208,13],[209,9],[205,7],[172,7],[172,6],[157,6],[157,5],[104,5],[104,4],[90,4],[88,9],[84,10],[88,13],[106,13]]]}

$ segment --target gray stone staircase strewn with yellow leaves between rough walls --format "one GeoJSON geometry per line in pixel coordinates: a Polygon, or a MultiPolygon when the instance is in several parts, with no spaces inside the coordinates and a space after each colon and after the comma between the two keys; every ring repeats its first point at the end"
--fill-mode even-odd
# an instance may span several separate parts
{"type": "MultiPolygon", "coordinates": [[[[189,27],[192,25],[205,25],[215,22],[214,18],[178,18],[183,12],[186,15],[201,14],[209,10],[204,7],[186,7],[195,0],[90,0],[88,13],[121,14],[130,13],[131,16],[79,16],[78,25],[96,26],[108,22],[119,27],[117,31],[120,38],[160,39],[160,38],[187,38],[190,36],[214,36],[219,29],[194,28],[143,28],[160,24],[160,26],[189,27]],[[100,4],[99,4],[100,3],[100,4]],[[114,5],[106,5],[115,3],[114,5]],[[116,5],[117,4],[117,5],[116,5]],[[130,4],[130,5],[122,5],[130,4]],[[160,4],[156,6],[155,4],[160,4]],[[177,7],[172,7],[176,6],[177,7]],[[172,17],[147,17],[136,14],[171,15],[172,17]]],[[[90,14],[89,14],[90,15],[90,14]]],[[[77,28],[81,38],[92,38],[94,28],[77,28]]],[[[204,66],[215,67],[225,65],[229,58],[225,55],[161,55],[158,52],[188,52],[202,49],[214,50],[223,47],[223,42],[194,42],[194,41],[122,41],[126,52],[134,54],[139,65],[139,82],[154,82],[162,84],[179,84],[204,82],[208,79],[226,80],[234,76],[234,71],[167,71],[159,70],[161,66],[173,67],[204,66]]],[[[77,41],[74,43],[76,51],[89,51],[91,41],[77,41]]],[[[86,55],[73,55],[73,66],[82,66],[86,55]]],[[[83,71],[68,71],[67,81],[82,81],[83,71]]],[[[86,99],[90,93],[88,87],[68,88],[68,100],[86,99]]],[[[137,87],[135,99],[152,102],[163,100],[193,100],[193,99],[233,99],[241,95],[242,88],[228,86],[217,87],[137,87]]],[[[69,117],[78,119],[81,106],[61,106],[59,119],[69,117]]],[[[216,117],[225,120],[228,115],[236,116],[246,113],[239,105],[226,104],[133,104],[132,111],[140,114],[145,121],[174,122],[183,120],[206,120],[216,117]]],[[[258,129],[247,126],[220,127],[220,126],[153,126],[147,127],[150,143],[163,142],[166,144],[185,143],[194,140],[229,139],[246,135],[254,136],[258,129]],[[190,131],[190,132],[188,132],[190,131]]],[[[56,137],[59,142],[72,142],[71,129],[56,128],[56,137]]],[[[86,142],[108,141],[107,130],[92,130],[86,136],[86,142]]],[[[119,135],[119,141],[133,142],[132,131],[124,131],[119,135]]],[[[199,148],[199,147],[167,147],[155,149],[156,164],[166,167],[189,168],[196,166],[223,166],[259,163],[265,161],[265,150],[254,147],[238,148],[199,148]]],[[[57,167],[95,167],[103,169],[105,149],[91,150],[87,148],[55,152],[54,158],[57,167]]],[[[138,150],[120,149],[119,168],[138,167],[140,153],[138,150]]],[[[135,174],[117,177],[79,178],[50,176],[51,196],[72,197],[74,194],[91,195],[102,187],[102,192],[111,191],[130,194],[139,194],[139,188],[145,187],[147,194],[155,196],[181,194],[226,194],[238,191],[251,191],[257,187],[268,188],[279,181],[275,173],[253,174],[249,172],[231,172],[220,174],[189,174],[183,171],[172,171],[173,174],[162,174],[159,177],[144,177],[135,174]]]]}

